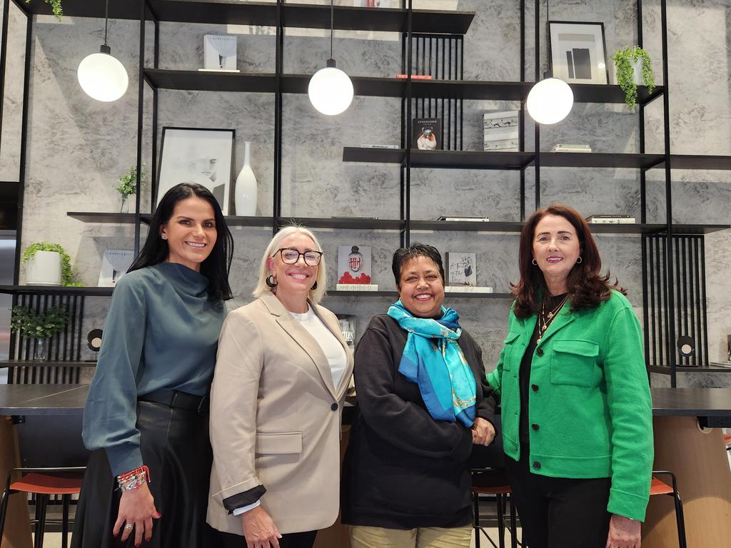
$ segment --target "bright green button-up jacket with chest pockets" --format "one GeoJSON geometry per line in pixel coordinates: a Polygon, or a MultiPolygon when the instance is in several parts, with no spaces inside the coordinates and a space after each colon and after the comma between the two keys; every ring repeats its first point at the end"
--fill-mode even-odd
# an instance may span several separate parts
{"type": "MultiPolygon", "coordinates": [[[[626,297],[588,311],[564,305],[533,354],[529,389],[529,463],[533,473],[611,477],[607,511],[645,519],[652,463],[652,403],[640,322],[626,297]]],[[[488,383],[501,398],[504,451],[520,458],[520,360],[536,316],[512,311],[488,383]]]]}

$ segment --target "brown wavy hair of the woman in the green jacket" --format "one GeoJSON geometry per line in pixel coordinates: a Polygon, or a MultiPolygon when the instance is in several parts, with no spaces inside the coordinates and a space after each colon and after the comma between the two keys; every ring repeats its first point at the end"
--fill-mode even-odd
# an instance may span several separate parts
{"type": "Polygon", "coordinates": [[[536,226],[547,215],[565,218],[572,224],[579,238],[581,262],[574,265],[567,280],[571,310],[596,308],[600,302],[609,299],[612,289],[626,294],[626,291],[617,285],[616,278],[613,284],[609,283],[608,270],[603,276],[599,272],[602,270],[602,258],[599,256],[594,237],[591,236],[591,230],[584,218],[577,210],[569,208],[568,205],[554,204],[548,208],[536,210],[520,231],[518,255],[520,281],[515,285],[511,284],[512,294],[515,297],[515,307],[513,308],[515,316],[527,318],[538,313],[542,296],[547,291],[543,273],[532,262],[536,226]]]}

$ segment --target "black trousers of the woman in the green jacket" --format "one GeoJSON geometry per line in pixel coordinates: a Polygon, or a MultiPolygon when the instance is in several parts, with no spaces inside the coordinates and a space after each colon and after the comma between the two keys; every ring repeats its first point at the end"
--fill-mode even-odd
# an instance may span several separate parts
{"type": "Polygon", "coordinates": [[[609,478],[550,478],[531,473],[528,448],[505,457],[529,548],[605,548],[609,534],[609,478]]]}

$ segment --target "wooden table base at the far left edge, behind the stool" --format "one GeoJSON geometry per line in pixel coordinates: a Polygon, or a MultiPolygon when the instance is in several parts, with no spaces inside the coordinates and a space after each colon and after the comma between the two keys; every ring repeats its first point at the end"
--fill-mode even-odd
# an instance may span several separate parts
{"type": "MultiPolygon", "coordinates": [[[[0,492],[5,488],[7,474],[20,466],[18,436],[9,416],[0,416],[0,492]]],[[[2,536],[3,548],[31,548],[31,528],[28,501],[23,495],[10,497],[2,536]]]]}

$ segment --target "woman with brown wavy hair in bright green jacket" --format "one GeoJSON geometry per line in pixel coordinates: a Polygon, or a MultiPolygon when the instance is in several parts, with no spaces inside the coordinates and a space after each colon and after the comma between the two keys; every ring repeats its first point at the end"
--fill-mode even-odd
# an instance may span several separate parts
{"type": "Polygon", "coordinates": [[[531,548],[639,548],[653,461],[640,322],[586,221],[537,210],[497,368],[504,452],[531,548]]]}

